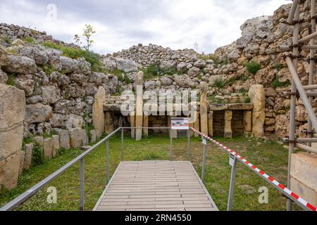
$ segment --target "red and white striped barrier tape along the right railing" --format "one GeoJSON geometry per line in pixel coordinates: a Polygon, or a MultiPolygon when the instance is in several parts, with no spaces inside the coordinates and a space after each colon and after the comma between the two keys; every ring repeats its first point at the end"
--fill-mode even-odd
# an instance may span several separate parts
{"type": "Polygon", "coordinates": [[[261,171],[261,169],[257,168],[256,166],[252,165],[249,161],[245,160],[244,158],[242,158],[241,155],[239,155],[237,152],[235,152],[234,150],[231,150],[230,148],[223,146],[223,144],[219,143],[216,140],[211,139],[209,136],[206,136],[205,134],[202,134],[201,132],[197,131],[196,129],[192,128],[192,131],[200,134],[201,136],[204,136],[206,139],[209,139],[209,141],[211,141],[212,143],[216,144],[217,146],[219,146],[220,148],[223,148],[224,150],[228,151],[228,153],[232,153],[233,155],[235,155],[239,160],[241,160],[244,165],[247,165],[247,167],[249,167],[250,169],[254,170],[255,172],[261,174],[263,176],[263,178],[268,179],[269,181],[271,181],[271,183],[276,186],[277,188],[281,189],[282,191],[285,191],[287,194],[291,195],[294,199],[296,199],[297,201],[299,201],[299,203],[301,203],[302,205],[304,205],[306,208],[308,208],[311,211],[317,211],[317,208],[314,207],[313,205],[311,205],[310,203],[307,203],[306,200],[302,199],[299,197],[299,195],[297,195],[296,193],[290,191],[290,189],[286,188],[285,186],[283,186],[282,184],[280,184],[278,181],[276,181],[272,176],[268,176],[268,174],[266,174],[265,172],[261,171]]]}

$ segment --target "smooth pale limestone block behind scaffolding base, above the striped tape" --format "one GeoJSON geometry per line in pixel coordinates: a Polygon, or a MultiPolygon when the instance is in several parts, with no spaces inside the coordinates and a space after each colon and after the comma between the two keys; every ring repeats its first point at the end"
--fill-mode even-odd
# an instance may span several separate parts
{"type": "Polygon", "coordinates": [[[291,176],[317,191],[317,155],[292,154],[291,176]]]}

